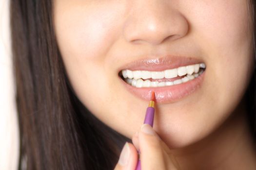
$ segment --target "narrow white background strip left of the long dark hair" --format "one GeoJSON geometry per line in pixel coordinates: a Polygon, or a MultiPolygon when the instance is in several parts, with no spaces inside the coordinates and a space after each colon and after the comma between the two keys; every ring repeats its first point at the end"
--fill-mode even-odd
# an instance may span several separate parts
{"type": "Polygon", "coordinates": [[[0,170],[17,170],[19,130],[10,50],[9,0],[0,0],[0,170]]]}

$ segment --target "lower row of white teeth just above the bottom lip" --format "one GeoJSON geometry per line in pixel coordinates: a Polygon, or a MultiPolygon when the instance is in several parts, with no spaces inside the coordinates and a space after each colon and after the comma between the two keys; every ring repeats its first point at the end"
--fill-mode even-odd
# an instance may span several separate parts
{"type": "Polygon", "coordinates": [[[203,73],[203,70],[199,71],[199,73],[194,73],[193,75],[187,75],[181,79],[177,79],[173,82],[151,82],[150,80],[145,80],[143,81],[142,79],[130,79],[130,78],[126,78],[125,81],[126,83],[128,83],[129,85],[135,86],[135,87],[163,87],[163,86],[171,86],[171,85],[179,85],[182,83],[186,83],[190,80],[195,79],[196,77],[198,77],[200,74],[203,73]]]}

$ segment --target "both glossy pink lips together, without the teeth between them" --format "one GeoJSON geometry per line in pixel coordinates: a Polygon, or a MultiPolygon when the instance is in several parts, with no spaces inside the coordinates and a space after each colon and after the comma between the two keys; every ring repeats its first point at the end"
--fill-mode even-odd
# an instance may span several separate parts
{"type": "MultiPolygon", "coordinates": [[[[163,57],[158,59],[142,59],[129,63],[123,67],[123,69],[130,70],[149,70],[149,71],[162,71],[165,69],[172,69],[181,66],[188,66],[197,63],[203,63],[200,59],[188,58],[188,57],[163,57]],[[154,63],[156,61],[156,63],[154,63]]],[[[177,102],[186,96],[196,92],[202,85],[205,71],[200,74],[197,78],[190,80],[186,83],[179,85],[163,86],[163,87],[142,87],[137,88],[127,84],[125,81],[120,80],[125,88],[144,101],[150,101],[152,91],[155,92],[156,102],[167,103],[177,102]]]]}

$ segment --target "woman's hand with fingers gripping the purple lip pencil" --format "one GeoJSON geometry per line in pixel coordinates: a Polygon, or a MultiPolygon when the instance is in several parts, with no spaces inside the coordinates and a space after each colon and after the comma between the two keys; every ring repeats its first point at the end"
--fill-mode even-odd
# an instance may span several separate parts
{"type": "Polygon", "coordinates": [[[133,136],[133,144],[126,142],[115,170],[135,170],[137,150],[140,151],[141,170],[178,170],[175,157],[150,125],[141,126],[133,136]]]}

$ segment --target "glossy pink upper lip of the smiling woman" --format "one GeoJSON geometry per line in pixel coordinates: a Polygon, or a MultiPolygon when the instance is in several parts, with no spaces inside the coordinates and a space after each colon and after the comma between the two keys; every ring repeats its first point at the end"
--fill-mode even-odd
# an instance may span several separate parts
{"type": "Polygon", "coordinates": [[[136,61],[130,62],[122,66],[119,70],[147,70],[147,71],[163,71],[166,69],[178,68],[181,66],[194,65],[203,63],[202,59],[196,57],[165,55],[161,57],[144,57],[136,61]]]}

